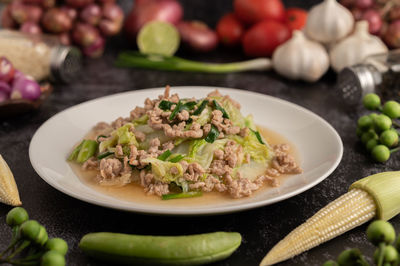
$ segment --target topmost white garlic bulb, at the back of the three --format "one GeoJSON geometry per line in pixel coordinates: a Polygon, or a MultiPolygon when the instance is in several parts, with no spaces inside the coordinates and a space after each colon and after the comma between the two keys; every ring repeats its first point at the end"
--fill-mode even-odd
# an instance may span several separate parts
{"type": "Polygon", "coordinates": [[[346,37],[353,26],[354,18],[347,8],[336,0],[325,0],[308,13],[305,32],[315,41],[331,43],[346,37]]]}

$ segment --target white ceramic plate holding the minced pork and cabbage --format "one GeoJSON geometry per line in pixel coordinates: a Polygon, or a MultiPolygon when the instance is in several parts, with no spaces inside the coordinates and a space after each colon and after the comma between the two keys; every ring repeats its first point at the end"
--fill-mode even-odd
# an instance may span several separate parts
{"type": "MultiPolygon", "coordinates": [[[[181,97],[205,97],[216,88],[174,87],[181,97]]],[[[292,142],[299,153],[304,172],[290,176],[278,188],[265,189],[253,197],[171,207],[158,203],[132,202],[100,193],[87,186],[66,162],[71,147],[99,121],[111,122],[129,116],[130,110],[155,98],[163,88],[115,94],[68,108],[46,121],[35,133],[29,147],[31,163],[44,181],[74,198],[126,211],[199,215],[227,213],[260,207],[297,195],[324,180],[339,164],[343,145],[337,132],[325,120],[292,103],[254,92],[218,88],[242,105],[242,113],[253,114],[258,125],[269,128],[292,142]]],[[[178,200],[177,200],[178,201],[178,200]]],[[[173,201],[168,201],[173,202],[173,201]]]]}

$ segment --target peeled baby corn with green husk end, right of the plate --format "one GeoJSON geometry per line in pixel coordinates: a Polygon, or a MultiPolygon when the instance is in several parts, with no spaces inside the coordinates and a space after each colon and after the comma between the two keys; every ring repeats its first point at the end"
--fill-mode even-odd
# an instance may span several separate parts
{"type": "Polygon", "coordinates": [[[388,220],[400,212],[400,171],[363,178],[350,191],[318,211],[276,244],[261,261],[273,265],[320,245],[373,217],[388,220]]]}

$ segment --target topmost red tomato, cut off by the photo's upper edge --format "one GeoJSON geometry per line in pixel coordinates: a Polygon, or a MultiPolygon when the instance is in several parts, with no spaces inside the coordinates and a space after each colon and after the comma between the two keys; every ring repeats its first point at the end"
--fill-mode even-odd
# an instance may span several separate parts
{"type": "Polygon", "coordinates": [[[235,0],[233,7],[237,17],[247,24],[266,19],[285,20],[285,7],[281,0],[235,0]]]}

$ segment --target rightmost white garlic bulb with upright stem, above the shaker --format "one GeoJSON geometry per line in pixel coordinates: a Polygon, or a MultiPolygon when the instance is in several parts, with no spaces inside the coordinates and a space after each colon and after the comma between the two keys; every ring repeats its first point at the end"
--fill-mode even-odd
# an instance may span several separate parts
{"type": "Polygon", "coordinates": [[[329,53],[331,65],[336,72],[345,67],[359,64],[368,56],[388,51],[376,36],[369,34],[368,22],[357,22],[352,35],[336,44],[329,53]]]}

